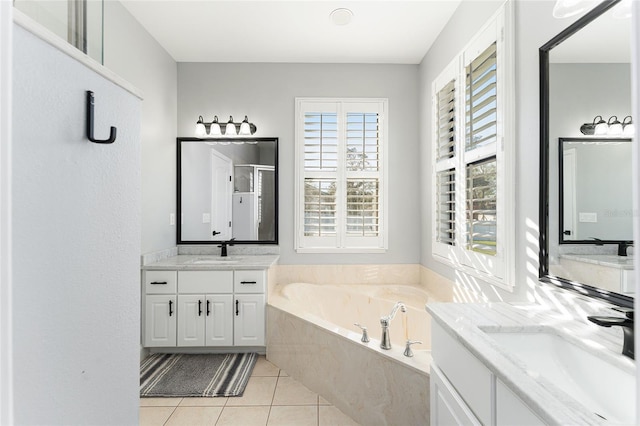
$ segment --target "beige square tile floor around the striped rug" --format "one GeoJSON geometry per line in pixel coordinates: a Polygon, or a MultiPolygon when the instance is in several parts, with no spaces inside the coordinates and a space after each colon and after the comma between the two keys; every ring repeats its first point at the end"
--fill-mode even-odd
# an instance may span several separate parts
{"type": "Polygon", "coordinates": [[[241,397],[140,398],[142,426],[357,426],[260,356],[241,397]]]}

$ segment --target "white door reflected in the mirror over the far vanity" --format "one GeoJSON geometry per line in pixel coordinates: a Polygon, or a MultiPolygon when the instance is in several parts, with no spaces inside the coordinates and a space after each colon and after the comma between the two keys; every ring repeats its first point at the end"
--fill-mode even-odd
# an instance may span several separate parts
{"type": "Polygon", "coordinates": [[[212,240],[231,239],[232,162],[211,150],[211,234],[212,240]],[[213,236],[214,232],[219,232],[213,236]]]}

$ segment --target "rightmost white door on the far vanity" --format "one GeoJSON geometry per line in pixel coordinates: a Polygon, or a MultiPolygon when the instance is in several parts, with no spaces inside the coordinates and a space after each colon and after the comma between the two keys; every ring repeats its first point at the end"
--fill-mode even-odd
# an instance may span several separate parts
{"type": "Polygon", "coordinates": [[[235,296],[235,346],[264,346],[264,294],[235,296]]]}

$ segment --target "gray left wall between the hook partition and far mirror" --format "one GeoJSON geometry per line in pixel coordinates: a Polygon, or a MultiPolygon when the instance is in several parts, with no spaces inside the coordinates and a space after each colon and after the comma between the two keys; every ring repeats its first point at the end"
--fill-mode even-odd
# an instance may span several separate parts
{"type": "Polygon", "coordinates": [[[104,64],[144,97],[142,253],[174,247],[169,215],[176,211],[177,64],[118,1],[104,3],[104,64]]]}

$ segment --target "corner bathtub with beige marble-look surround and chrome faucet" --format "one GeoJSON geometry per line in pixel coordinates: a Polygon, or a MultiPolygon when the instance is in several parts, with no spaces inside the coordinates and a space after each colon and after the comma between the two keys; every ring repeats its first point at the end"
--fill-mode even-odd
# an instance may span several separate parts
{"type": "Polygon", "coordinates": [[[406,285],[276,286],[267,304],[267,359],[363,425],[429,423],[429,295],[406,285]],[[380,318],[398,310],[380,348],[380,318]],[[368,328],[369,343],[354,323],[368,328]],[[413,357],[404,356],[408,339],[413,357]]]}

